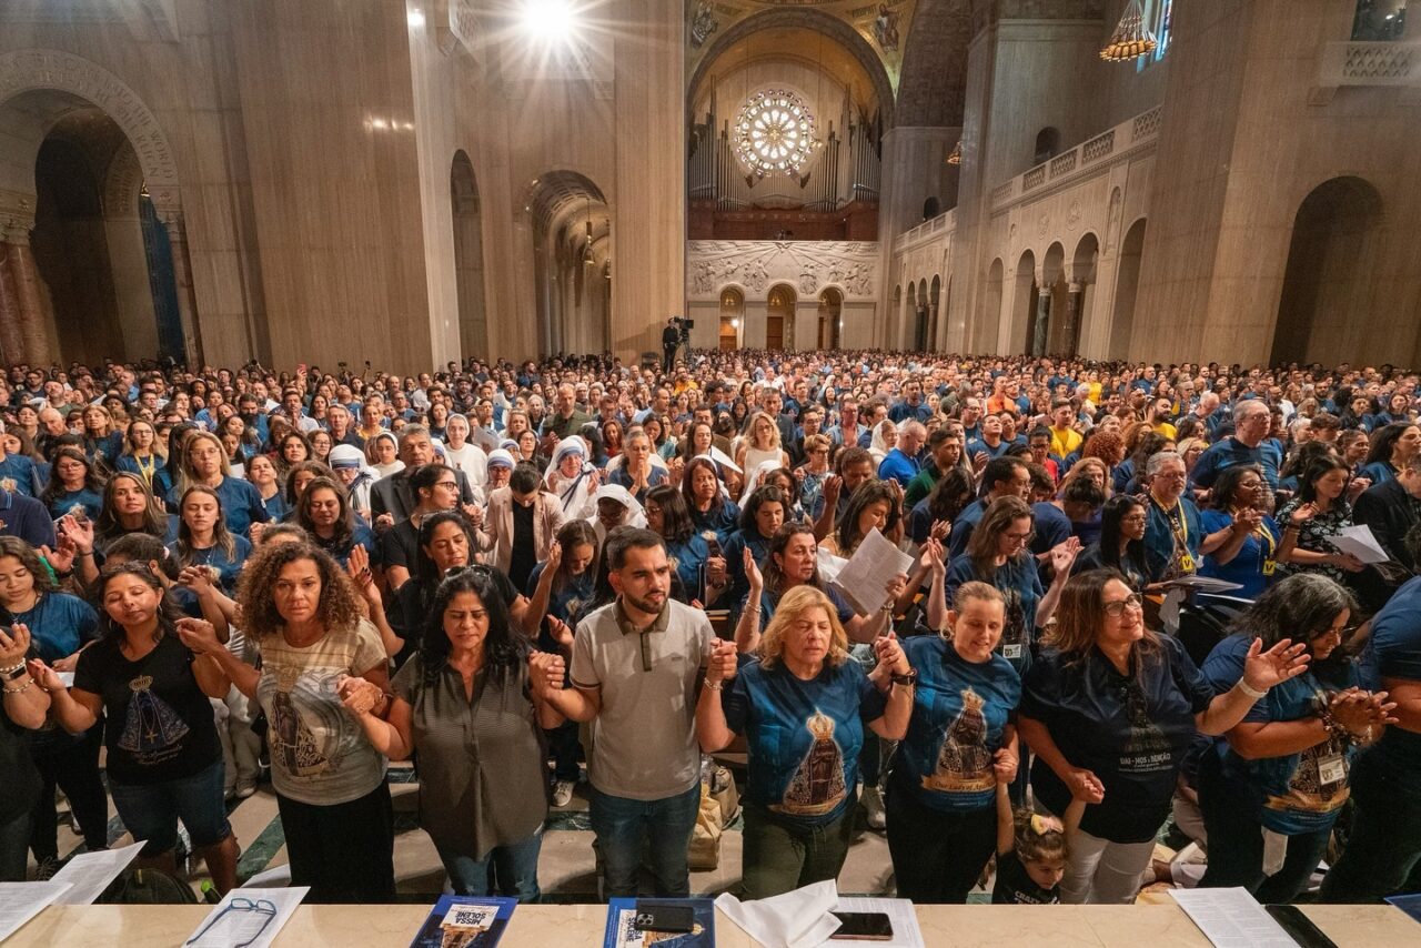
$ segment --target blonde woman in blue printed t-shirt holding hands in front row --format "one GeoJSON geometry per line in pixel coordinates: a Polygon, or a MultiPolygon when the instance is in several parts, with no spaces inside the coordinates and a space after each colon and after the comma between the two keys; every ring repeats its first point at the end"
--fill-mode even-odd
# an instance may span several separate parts
{"type": "Polygon", "coordinates": [[[875,644],[865,675],[820,590],[790,590],[764,630],[760,661],[736,674],[736,651],[716,642],[696,702],[703,750],[745,733],[745,898],[836,878],[848,854],[864,725],[899,740],[912,711],[911,672],[892,635],[875,644]],[[733,677],[729,686],[725,679],[733,677]]]}

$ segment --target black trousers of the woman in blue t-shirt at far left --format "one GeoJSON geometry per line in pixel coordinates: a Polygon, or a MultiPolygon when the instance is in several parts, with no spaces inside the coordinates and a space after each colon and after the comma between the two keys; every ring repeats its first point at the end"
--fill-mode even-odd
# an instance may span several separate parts
{"type": "Polygon", "coordinates": [[[34,766],[44,779],[40,799],[30,814],[30,851],[37,863],[60,857],[55,786],[70,797],[70,809],[84,833],[84,846],[91,851],[108,849],[108,795],[98,776],[98,752],[102,743],[101,721],[80,738],[45,732],[30,746],[34,766]]]}

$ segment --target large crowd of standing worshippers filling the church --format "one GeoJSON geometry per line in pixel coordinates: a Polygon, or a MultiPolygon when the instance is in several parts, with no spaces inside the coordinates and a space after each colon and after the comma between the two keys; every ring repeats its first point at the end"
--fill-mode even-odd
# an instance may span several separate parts
{"type": "Polygon", "coordinates": [[[604,895],[685,895],[743,740],[749,898],[863,826],[919,903],[1421,888],[1415,372],[676,354],[13,367],[0,880],[63,792],[226,891],[270,780],[293,884],[389,901],[416,758],[455,891],[537,900],[581,793],[604,895]]]}

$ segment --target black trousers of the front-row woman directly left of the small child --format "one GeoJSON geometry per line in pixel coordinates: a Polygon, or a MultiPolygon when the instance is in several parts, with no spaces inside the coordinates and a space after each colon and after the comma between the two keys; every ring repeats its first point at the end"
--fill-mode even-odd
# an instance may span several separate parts
{"type": "Polygon", "coordinates": [[[961,905],[996,850],[996,806],[968,813],[929,809],[912,796],[899,773],[888,779],[884,802],[898,898],[961,905]]]}

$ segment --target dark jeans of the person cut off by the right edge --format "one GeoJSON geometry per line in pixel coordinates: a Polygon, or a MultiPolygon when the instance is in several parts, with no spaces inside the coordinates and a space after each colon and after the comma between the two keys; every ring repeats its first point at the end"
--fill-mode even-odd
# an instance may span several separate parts
{"type": "MultiPolygon", "coordinates": [[[[1319,901],[1377,903],[1421,884],[1421,773],[1367,750],[1351,769],[1351,836],[1319,901]],[[1410,877],[1410,881],[1408,881],[1410,877]]],[[[1212,846],[1209,850],[1212,857],[1212,846]]]]}

